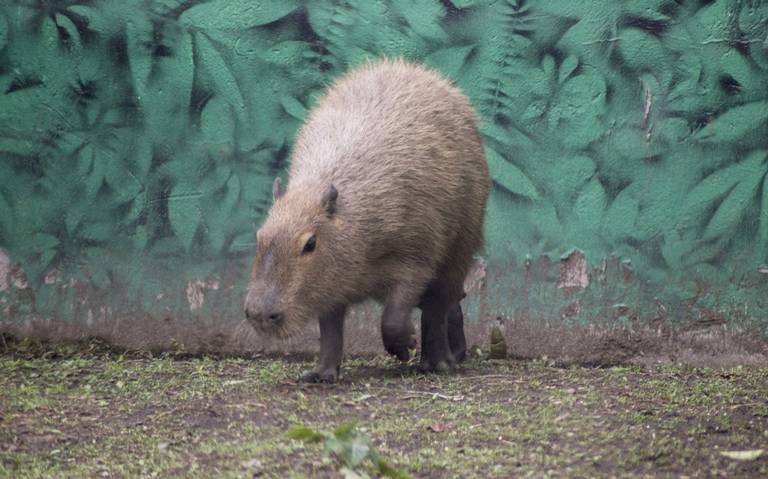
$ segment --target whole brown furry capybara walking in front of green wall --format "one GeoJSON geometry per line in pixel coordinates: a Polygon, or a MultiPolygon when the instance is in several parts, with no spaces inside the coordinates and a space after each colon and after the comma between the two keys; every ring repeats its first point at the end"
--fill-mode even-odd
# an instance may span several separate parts
{"type": "Polygon", "coordinates": [[[277,337],[318,318],[320,360],[301,379],[334,382],[350,305],[383,305],[384,347],[401,360],[416,346],[418,307],[421,369],[452,369],[489,189],[475,114],[456,87],[404,60],[353,70],[309,113],[285,191],[275,179],[246,317],[277,337]]]}

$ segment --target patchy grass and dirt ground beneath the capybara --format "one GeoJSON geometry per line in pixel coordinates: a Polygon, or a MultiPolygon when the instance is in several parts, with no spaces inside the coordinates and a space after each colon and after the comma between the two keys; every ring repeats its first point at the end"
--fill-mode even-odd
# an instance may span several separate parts
{"type": "Polygon", "coordinates": [[[286,431],[349,420],[418,478],[768,477],[768,451],[722,454],[768,449],[768,368],[475,358],[421,375],[375,356],[297,384],[310,364],[6,347],[0,477],[342,477],[286,431]]]}

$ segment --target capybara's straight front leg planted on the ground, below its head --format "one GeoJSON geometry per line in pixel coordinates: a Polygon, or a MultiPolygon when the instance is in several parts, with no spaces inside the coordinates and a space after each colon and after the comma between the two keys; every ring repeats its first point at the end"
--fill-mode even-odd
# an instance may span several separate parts
{"type": "Polygon", "coordinates": [[[301,375],[300,381],[334,383],[339,378],[344,349],[344,313],[346,308],[337,307],[320,316],[320,360],[313,369],[301,375]]]}

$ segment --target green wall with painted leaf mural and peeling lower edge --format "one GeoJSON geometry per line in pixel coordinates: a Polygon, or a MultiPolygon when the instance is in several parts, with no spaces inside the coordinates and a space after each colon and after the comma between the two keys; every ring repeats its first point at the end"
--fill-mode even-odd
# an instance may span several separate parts
{"type": "Polygon", "coordinates": [[[480,112],[473,316],[766,332],[759,0],[5,0],[0,314],[240,319],[293,135],[380,55],[480,112]]]}

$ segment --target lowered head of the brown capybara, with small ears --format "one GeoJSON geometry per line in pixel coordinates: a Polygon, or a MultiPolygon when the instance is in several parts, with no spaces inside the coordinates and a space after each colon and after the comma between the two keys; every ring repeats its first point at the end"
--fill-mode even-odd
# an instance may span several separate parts
{"type": "Polygon", "coordinates": [[[274,204],[256,234],[245,316],[259,332],[278,337],[297,333],[311,318],[325,313],[333,275],[338,192],[283,193],[280,178],[272,187],[274,204]]]}

